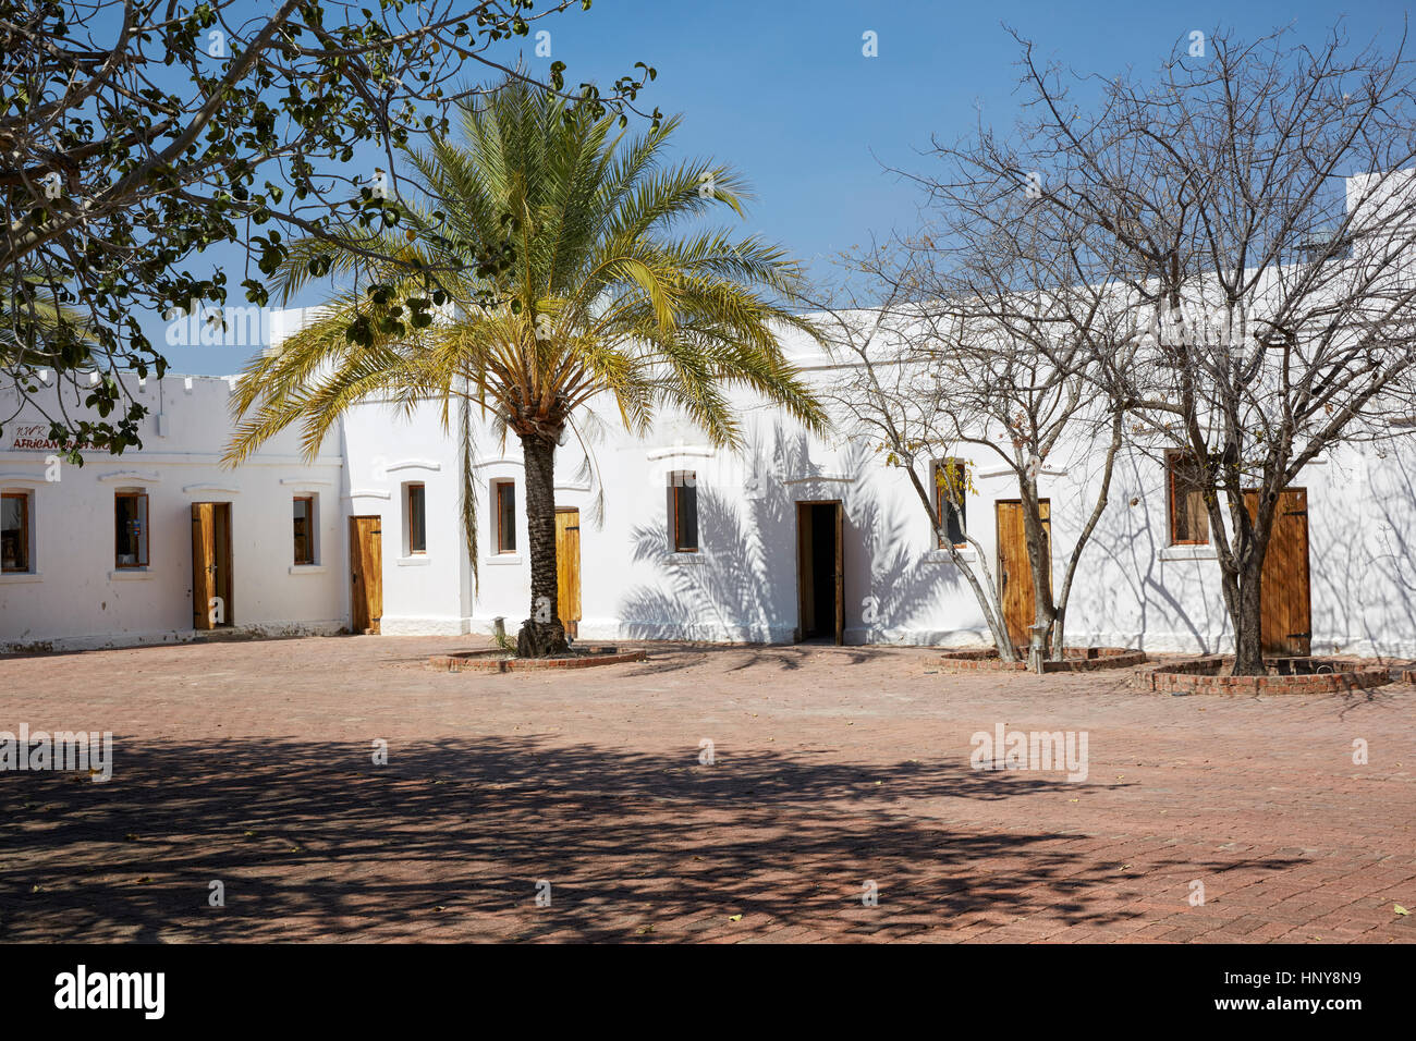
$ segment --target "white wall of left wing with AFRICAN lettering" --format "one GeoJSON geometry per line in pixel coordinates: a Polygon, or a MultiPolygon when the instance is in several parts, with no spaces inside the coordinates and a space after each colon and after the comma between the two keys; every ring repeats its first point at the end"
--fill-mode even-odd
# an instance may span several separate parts
{"type": "Polygon", "coordinates": [[[193,503],[228,504],[229,629],[251,635],[337,633],[347,625],[343,460],[306,462],[295,438],[273,440],[231,470],[224,378],[170,377],[130,389],[150,414],[142,449],[85,452],[55,463],[47,423],[21,415],[0,440],[0,490],[25,499],[24,572],[0,574],[0,647],[89,649],[171,643],[193,623],[193,503]],[[160,432],[159,432],[160,431],[160,432]],[[118,558],[115,499],[144,496],[146,565],[118,558]],[[314,561],[297,567],[292,503],[314,503],[314,561]]]}

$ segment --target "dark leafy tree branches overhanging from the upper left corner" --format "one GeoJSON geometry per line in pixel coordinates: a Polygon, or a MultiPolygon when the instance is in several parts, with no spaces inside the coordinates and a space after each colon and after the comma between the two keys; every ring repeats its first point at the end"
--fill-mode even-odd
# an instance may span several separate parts
{"type": "MultiPolygon", "coordinates": [[[[198,302],[219,323],[232,295],[266,303],[285,235],[395,224],[362,160],[446,129],[476,95],[455,86],[466,62],[504,68],[498,48],[571,3],[278,0],[256,17],[245,0],[0,0],[0,371],[21,406],[55,440],[137,445],[144,409],[119,374],[164,370],[142,313],[198,302]],[[188,266],[219,244],[259,273],[236,288],[188,266]],[[82,391],[98,422],[37,394],[37,377],[78,387],[95,368],[106,378],[82,391]]],[[[623,116],[653,76],[636,71],[602,95],[568,91],[552,62],[542,85],[623,116]]]]}

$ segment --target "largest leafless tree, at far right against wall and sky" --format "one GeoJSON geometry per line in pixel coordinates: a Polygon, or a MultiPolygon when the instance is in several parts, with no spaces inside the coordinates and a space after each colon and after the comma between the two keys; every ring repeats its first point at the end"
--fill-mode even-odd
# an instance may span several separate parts
{"type": "MultiPolygon", "coordinates": [[[[1021,42],[1021,41],[1020,41],[1021,42]]],[[[1408,429],[1416,113],[1405,38],[1182,42],[1158,76],[1086,81],[1022,42],[1028,122],[969,154],[1124,259],[1147,364],[1126,404],[1204,489],[1236,674],[1264,669],[1263,562],[1283,490],[1334,446],[1408,429]]],[[[940,147],[957,157],[954,147],[940,147]]]]}

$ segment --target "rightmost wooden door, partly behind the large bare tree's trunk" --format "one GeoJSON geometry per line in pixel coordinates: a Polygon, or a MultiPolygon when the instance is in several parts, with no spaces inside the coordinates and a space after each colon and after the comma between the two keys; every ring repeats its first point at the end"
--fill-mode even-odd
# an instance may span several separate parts
{"type": "MultiPolygon", "coordinates": [[[[1259,493],[1245,493],[1253,518],[1259,493]]],[[[1264,654],[1307,656],[1313,652],[1313,602],[1308,584],[1308,493],[1284,489],[1273,514],[1273,534],[1263,558],[1260,640],[1264,654]]]]}

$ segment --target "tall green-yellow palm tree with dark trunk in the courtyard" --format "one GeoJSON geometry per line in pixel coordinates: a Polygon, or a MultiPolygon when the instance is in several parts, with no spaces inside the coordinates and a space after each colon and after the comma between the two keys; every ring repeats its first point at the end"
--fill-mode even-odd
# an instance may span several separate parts
{"type": "Polygon", "coordinates": [[[725,166],[667,164],[677,125],[629,137],[613,116],[593,119],[515,79],[460,108],[462,142],[435,137],[408,153],[409,181],[426,201],[402,204],[398,227],[372,248],[367,237],[292,245],[278,272],[287,300],[312,268],[354,285],[246,368],[228,465],[292,423],[313,457],[360,401],[411,411],[435,399],[445,429],[456,404],[476,568],[470,412],[481,409],[496,436],[520,439],[525,459],[531,613],[518,653],[564,653],[552,467],[556,445],[581,436],[596,405],[636,433],[677,409],[729,448],[742,440],[733,388],[811,429],[826,425],[777,341],[787,327],[814,336],[787,309],[803,289],[799,266],[758,237],[681,228],[714,210],[741,217],[746,194],[725,166]],[[487,262],[506,246],[500,263],[487,262]],[[361,293],[360,278],[392,292],[361,293]],[[438,317],[399,303],[409,297],[438,317]]]}

